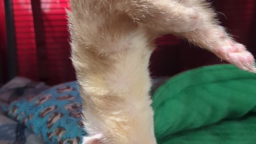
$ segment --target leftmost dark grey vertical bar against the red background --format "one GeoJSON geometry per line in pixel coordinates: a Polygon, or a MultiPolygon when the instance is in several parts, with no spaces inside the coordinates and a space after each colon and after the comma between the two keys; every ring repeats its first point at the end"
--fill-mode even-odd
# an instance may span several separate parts
{"type": "Polygon", "coordinates": [[[6,39],[7,39],[7,69],[8,79],[11,80],[18,75],[16,37],[13,20],[12,0],[4,0],[6,18],[6,39]]]}

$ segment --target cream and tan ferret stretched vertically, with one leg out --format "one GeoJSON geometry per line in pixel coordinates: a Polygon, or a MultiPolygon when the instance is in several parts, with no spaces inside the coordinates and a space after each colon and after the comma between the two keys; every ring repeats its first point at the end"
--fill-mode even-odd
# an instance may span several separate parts
{"type": "Polygon", "coordinates": [[[71,59],[88,136],[83,144],[156,144],[148,64],[173,34],[242,70],[254,57],[220,26],[206,0],[70,0],[71,59]]]}

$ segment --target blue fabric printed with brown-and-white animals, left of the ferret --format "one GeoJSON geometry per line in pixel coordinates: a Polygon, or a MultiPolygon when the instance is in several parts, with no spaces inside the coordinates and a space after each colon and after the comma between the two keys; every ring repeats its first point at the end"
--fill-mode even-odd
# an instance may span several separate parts
{"type": "Polygon", "coordinates": [[[54,86],[39,96],[26,97],[2,105],[8,117],[24,123],[48,144],[81,144],[82,127],[78,85],[68,82],[54,86]]]}

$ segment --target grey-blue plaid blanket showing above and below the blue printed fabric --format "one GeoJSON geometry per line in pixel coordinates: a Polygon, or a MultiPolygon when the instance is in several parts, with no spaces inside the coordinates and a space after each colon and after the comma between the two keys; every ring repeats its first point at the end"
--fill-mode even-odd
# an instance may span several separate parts
{"type": "MultiPolygon", "coordinates": [[[[21,97],[33,96],[48,86],[26,78],[16,77],[0,89],[0,104],[12,102],[21,97]]],[[[0,114],[0,144],[45,144],[24,124],[15,122],[0,114]]]]}

